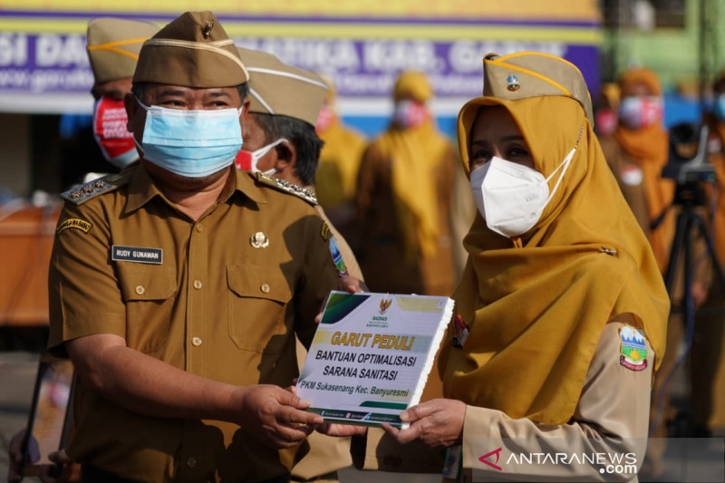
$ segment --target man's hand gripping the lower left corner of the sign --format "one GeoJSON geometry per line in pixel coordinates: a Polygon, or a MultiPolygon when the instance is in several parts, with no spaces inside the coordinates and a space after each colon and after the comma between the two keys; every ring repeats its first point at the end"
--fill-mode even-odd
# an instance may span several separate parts
{"type": "Polygon", "coordinates": [[[240,401],[233,403],[238,423],[272,448],[293,448],[323,423],[321,416],[303,411],[309,401],[274,385],[240,387],[238,396],[233,398],[240,401]]]}

